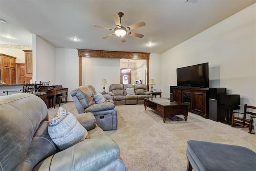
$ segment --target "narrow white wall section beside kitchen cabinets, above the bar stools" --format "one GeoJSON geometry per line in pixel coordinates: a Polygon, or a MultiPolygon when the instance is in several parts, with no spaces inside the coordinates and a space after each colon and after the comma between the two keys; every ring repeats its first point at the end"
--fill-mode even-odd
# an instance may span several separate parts
{"type": "Polygon", "coordinates": [[[55,48],[37,35],[33,42],[33,81],[57,84],[55,73],[55,48]]]}

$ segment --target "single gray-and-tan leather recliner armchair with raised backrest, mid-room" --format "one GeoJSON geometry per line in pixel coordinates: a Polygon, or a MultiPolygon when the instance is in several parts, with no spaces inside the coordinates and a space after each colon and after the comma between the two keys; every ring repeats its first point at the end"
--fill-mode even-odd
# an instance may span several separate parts
{"type": "Polygon", "coordinates": [[[96,118],[97,125],[103,130],[117,129],[117,112],[111,102],[95,103],[94,90],[90,86],[80,86],[73,89],[70,94],[78,113],[91,112],[96,118]]]}

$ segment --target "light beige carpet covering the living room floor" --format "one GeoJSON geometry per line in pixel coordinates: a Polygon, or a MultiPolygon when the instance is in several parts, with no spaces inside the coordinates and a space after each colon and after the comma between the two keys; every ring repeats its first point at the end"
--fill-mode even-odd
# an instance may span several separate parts
{"type": "MultiPolygon", "coordinates": [[[[61,105],[78,114],[74,103],[61,105]]],[[[49,109],[52,118],[56,109],[49,109]]],[[[256,152],[256,135],[248,128],[235,128],[188,113],[182,121],[162,117],[144,105],[118,105],[118,129],[105,131],[120,147],[120,156],[129,171],[184,171],[187,141],[201,140],[248,147],[256,152]]],[[[207,154],[206,154],[207,155],[207,154]]]]}

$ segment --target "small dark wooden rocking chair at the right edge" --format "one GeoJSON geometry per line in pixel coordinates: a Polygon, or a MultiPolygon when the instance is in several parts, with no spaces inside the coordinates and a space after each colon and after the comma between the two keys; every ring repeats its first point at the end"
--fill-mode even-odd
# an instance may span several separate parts
{"type": "Polygon", "coordinates": [[[255,106],[249,106],[247,104],[244,104],[244,112],[232,112],[232,122],[231,125],[232,127],[247,127],[249,128],[249,132],[252,133],[252,123],[253,123],[253,118],[256,118],[256,113],[253,111],[255,110],[255,106]],[[235,116],[235,114],[238,114],[235,116]],[[239,114],[243,114],[242,117],[239,117],[239,114]],[[250,115],[250,119],[246,118],[246,114],[250,115]]]}

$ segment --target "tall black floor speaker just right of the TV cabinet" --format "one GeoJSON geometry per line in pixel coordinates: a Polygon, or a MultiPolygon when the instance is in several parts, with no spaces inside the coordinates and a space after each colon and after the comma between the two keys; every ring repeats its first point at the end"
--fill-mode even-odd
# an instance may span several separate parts
{"type": "Polygon", "coordinates": [[[226,88],[209,88],[209,119],[226,122],[226,110],[220,108],[220,94],[225,94],[226,88]]]}

